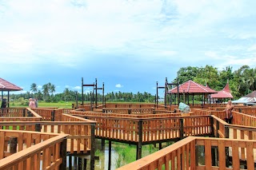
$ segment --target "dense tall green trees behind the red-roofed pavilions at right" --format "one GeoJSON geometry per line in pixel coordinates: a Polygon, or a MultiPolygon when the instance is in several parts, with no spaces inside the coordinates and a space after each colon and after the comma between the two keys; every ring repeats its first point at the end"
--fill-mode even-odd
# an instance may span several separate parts
{"type": "Polygon", "coordinates": [[[237,70],[233,70],[231,66],[222,70],[212,65],[182,67],[178,70],[177,78],[173,82],[179,81],[179,84],[182,84],[189,80],[201,85],[209,85],[211,89],[217,91],[222,90],[229,82],[234,99],[238,99],[256,89],[256,68],[250,68],[248,65],[242,65],[237,70]]]}

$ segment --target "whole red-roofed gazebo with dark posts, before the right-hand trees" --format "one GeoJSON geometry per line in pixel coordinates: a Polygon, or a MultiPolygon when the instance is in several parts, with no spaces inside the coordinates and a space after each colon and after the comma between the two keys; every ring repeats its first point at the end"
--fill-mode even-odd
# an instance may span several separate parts
{"type": "Polygon", "coordinates": [[[186,81],[182,85],[178,85],[178,87],[174,87],[174,89],[170,89],[168,93],[174,93],[178,95],[183,95],[183,101],[186,101],[187,97],[187,104],[189,105],[189,96],[192,95],[193,105],[194,105],[194,95],[202,95],[203,97],[203,104],[205,104],[205,96],[217,93],[214,89],[210,89],[210,87],[206,87],[204,85],[200,85],[194,81],[186,81]]]}

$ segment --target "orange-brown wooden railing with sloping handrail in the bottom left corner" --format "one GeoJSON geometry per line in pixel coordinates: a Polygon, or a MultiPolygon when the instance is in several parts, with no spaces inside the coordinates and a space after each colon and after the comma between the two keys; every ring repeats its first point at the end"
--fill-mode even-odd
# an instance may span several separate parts
{"type": "Polygon", "coordinates": [[[65,169],[66,136],[0,130],[0,169],[65,169]]]}

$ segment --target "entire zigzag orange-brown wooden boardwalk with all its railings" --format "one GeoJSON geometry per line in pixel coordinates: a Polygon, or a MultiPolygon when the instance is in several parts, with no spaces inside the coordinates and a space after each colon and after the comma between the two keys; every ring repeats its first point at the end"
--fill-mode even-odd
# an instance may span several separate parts
{"type": "Polygon", "coordinates": [[[32,164],[31,161],[33,164],[30,169],[38,169],[41,165],[35,160],[42,160],[43,169],[63,169],[66,168],[66,155],[88,155],[90,169],[94,169],[95,138],[110,140],[110,143],[118,141],[135,144],[138,159],[142,157],[142,145],[162,146],[162,142],[180,140],[168,147],[169,150],[164,148],[166,156],[159,154],[159,151],[149,156],[150,158],[142,158],[121,169],[138,167],[134,164],[140,165],[136,169],[236,169],[241,164],[248,169],[254,169],[256,156],[249,151],[256,148],[256,109],[237,107],[233,112],[233,125],[229,125],[222,121],[224,112],[219,105],[215,108],[209,105],[208,109],[192,109],[186,115],[177,113],[177,106],[166,108],[158,105],[157,108],[155,105],[106,104],[94,111],[86,106],[76,110],[2,109],[0,143],[3,149],[0,149],[0,169],[22,169],[27,164],[32,164]],[[219,139],[192,136],[215,136],[219,139]],[[183,138],[186,139],[182,140],[183,138]],[[17,141],[16,145],[13,139],[17,141]],[[36,142],[36,139],[41,140],[36,142]],[[45,141],[47,144],[44,144],[45,141]],[[18,159],[17,154],[10,150],[10,144],[13,143],[12,148],[18,148],[18,155],[25,152],[26,159],[18,159]],[[50,143],[57,145],[49,147],[50,143]],[[38,144],[41,144],[42,150],[38,150],[37,157],[28,149],[38,144]],[[197,162],[198,146],[205,147],[205,165],[197,162]],[[44,163],[47,154],[50,156],[44,163]],[[234,164],[234,160],[238,161],[234,164]]]}

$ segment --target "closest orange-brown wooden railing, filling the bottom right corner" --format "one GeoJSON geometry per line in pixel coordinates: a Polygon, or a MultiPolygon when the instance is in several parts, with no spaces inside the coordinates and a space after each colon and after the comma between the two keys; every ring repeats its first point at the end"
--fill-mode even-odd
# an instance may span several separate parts
{"type": "Polygon", "coordinates": [[[133,169],[240,169],[241,148],[246,150],[244,154],[247,169],[254,169],[254,140],[230,140],[210,137],[189,136],[169,147],[145,156],[133,163],[126,164],[118,170],[133,169]],[[199,148],[204,148],[199,149],[199,148]],[[232,162],[229,164],[226,153],[231,148],[232,162]],[[198,156],[202,156],[202,161],[198,162],[198,156]],[[215,156],[217,155],[217,156],[215,156]],[[226,168],[232,166],[232,168],[226,168]]]}

